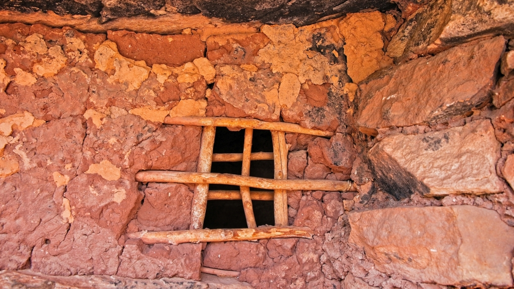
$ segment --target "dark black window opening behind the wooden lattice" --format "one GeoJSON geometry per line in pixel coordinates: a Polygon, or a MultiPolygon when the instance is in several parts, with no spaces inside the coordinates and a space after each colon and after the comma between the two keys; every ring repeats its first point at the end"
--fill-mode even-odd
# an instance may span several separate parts
{"type": "MultiPolygon", "coordinates": [[[[229,131],[225,127],[216,128],[213,153],[243,153],[245,130],[229,131]]],[[[253,130],[252,152],[273,152],[270,131],[253,130]]],[[[241,175],[242,161],[213,162],[211,172],[241,175]]],[[[250,176],[273,178],[273,160],[252,160],[250,176]]],[[[209,190],[236,190],[238,186],[209,185],[209,190]]],[[[267,191],[250,188],[252,191],[267,191]]],[[[257,226],[274,225],[273,201],[252,201],[253,214],[257,226]]],[[[207,202],[204,228],[232,229],[247,228],[245,211],[241,200],[212,200],[207,202]]]]}

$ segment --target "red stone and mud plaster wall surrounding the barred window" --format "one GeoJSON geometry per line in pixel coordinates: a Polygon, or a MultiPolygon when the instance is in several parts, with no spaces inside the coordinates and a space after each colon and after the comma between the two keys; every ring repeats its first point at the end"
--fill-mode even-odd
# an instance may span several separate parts
{"type": "MultiPolygon", "coordinates": [[[[0,269],[199,280],[207,266],[256,288],[512,286],[512,20],[466,34],[454,28],[469,21],[460,6],[437,3],[244,33],[0,24],[0,269]],[[127,240],[190,225],[194,186],[134,179],[196,170],[201,128],[166,116],[332,131],[286,135],[288,178],[352,180],[358,192],[288,192],[289,225],[313,239],[127,240]]],[[[495,5],[484,13],[512,10],[495,5]]]]}

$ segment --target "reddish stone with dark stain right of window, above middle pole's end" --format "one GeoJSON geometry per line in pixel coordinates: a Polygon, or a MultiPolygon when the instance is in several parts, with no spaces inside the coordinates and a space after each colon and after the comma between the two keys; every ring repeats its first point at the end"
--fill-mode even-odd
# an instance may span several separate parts
{"type": "Polygon", "coordinates": [[[337,133],[330,140],[318,137],[309,143],[309,157],[319,164],[340,172],[350,178],[352,164],[357,151],[351,136],[337,133]]]}

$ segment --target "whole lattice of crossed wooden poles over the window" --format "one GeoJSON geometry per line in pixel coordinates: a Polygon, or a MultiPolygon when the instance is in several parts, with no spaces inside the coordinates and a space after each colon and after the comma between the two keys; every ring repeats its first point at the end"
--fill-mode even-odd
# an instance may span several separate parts
{"type": "Polygon", "coordinates": [[[332,132],[306,129],[293,123],[228,117],[166,117],[164,123],[204,127],[197,172],[140,171],[136,174],[136,180],[138,182],[197,184],[191,207],[191,227],[190,230],[186,231],[128,233],[128,238],[140,238],[146,244],[243,241],[290,237],[311,238],[313,231],[309,228],[288,227],[287,190],[355,191],[355,187],[350,181],[287,179],[288,148],[285,133],[327,137],[334,135],[332,132]],[[243,153],[213,154],[216,127],[245,129],[243,153]],[[271,131],[272,153],[251,153],[254,129],[271,131]],[[274,160],[274,179],[249,176],[250,161],[265,159],[274,160]],[[242,161],[242,173],[241,175],[211,173],[213,161],[242,161]],[[209,191],[209,184],[235,185],[240,187],[240,191],[209,191]],[[272,189],[274,191],[250,191],[250,187],[272,189]],[[202,229],[208,200],[242,200],[248,229],[202,229]],[[252,200],[273,201],[274,227],[256,227],[252,200]]]}

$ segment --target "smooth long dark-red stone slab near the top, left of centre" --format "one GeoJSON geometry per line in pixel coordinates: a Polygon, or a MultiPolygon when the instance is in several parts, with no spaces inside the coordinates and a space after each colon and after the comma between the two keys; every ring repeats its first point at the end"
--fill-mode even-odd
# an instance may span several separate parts
{"type": "Polygon", "coordinates": [[[159,35],[131,31],[107,31],[107,39],[114,41],[120,54],[146,65],[180,66],[204,57],[205,44],[198,35],[159,35]]]}

